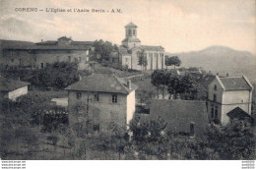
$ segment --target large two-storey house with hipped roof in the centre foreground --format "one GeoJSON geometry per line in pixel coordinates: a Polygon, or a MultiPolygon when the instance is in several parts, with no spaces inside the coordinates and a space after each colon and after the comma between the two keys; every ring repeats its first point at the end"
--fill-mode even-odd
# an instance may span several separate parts
{"type": "Polygon", "coordinates": [[[105,129],[111,122],[126,128],[135,113],[137,86],[115,75],[93,74],[66,89],[70,125],[83,123],[88,115],[94,130],[105,129]]]}

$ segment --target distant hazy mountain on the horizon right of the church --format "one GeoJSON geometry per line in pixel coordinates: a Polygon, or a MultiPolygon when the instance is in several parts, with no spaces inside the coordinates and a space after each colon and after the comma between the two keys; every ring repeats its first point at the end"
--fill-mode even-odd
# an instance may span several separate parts
{"type": "Polygon", "coordinates": [[[168,56],[178,56],[182,67],[203,67],[214,74],[230,76],[246,75],[256,80],[256,56],[247,51],[238,51],[225,46],[211,46],[200,51],[168,53],[168,56]]]}

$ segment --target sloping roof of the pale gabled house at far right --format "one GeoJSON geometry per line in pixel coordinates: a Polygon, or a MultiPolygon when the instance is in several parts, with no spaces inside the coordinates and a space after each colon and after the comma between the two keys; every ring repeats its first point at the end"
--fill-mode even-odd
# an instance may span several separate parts
{"type": "Polygon", "coordinates": [[[225,90],[250,90],[252,87],[243,77],[224,77],[220,78],[225,90]]]}

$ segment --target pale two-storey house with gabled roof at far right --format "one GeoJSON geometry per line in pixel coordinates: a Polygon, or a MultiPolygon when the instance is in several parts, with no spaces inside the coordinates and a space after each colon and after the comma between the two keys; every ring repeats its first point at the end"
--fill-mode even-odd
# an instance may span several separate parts
{"type": "Polygon", "coordinates": [[[208,115],[212,122],[226,125],[237,114],[251,116],[253,85],[245,77],[219,77],[209,85],[208,115]],[[242,111],[235,111],[234,109],[242,111]]]}

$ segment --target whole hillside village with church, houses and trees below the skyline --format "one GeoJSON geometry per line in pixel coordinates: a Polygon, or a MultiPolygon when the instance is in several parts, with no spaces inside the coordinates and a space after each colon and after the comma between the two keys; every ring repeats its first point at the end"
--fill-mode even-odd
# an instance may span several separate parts
{"type": "Polygon", "coordinates": [[[139,34],[0,40],[0,157],[255,159],[255,84],[182,67],[139,34]]]}

